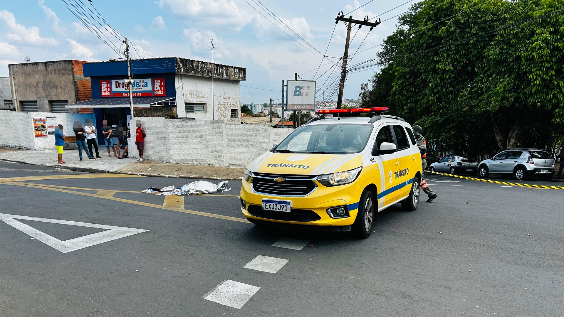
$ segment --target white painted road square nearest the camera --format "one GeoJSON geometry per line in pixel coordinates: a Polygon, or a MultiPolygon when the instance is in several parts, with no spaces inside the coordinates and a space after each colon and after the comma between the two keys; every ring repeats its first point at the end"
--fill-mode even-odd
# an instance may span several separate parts
{"type": "Polygon", "coordinates": [[[204,300],[241,309],[259,289],[261,288],[238,281],[224,280],[205,294],[204,300]]]}

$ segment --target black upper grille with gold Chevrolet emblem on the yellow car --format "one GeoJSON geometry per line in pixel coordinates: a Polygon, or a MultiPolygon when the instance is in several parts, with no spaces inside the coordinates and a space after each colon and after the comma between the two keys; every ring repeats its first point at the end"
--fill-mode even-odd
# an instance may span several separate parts
{"type": "Polygon", "coordinates": [[[302,178],[303,176],[307,176],[308,179],[292,179],[298,175],[272,174],[269,174],[269,178],[262,178],[266,177],[263,175],[265,174],[254,174],[252,185],[255,192],[278,196],[305,196],[316,187],[310,175],[299,175],[302,178]],[[277,182],[275,179],[284,180],[277,182]]]}

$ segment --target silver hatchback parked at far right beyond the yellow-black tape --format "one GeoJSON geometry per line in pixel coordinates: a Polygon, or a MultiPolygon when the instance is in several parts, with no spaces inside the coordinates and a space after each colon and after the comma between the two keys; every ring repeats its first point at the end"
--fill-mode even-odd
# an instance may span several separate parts
{"type": "Polygon", "coordinates": [[[550,180],[554,175],[554,158],[543,149],[508,149],[481,161],[478,174],[480,177],[488,177],[489,174],[512,175],[517,180],[531,175],[550,180]]]}

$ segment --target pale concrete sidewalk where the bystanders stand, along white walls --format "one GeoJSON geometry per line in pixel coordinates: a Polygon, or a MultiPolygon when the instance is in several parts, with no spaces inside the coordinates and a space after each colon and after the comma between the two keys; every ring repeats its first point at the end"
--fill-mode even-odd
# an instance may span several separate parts
{"type": "Polygon", "coordinates": [[[83,161],[79,160],[78,150],[65,149],[63,160],[67,164],[59,165],[56,150],[29,151],[0,147],[0,160],[18,162],[32,165],[52,166],[59,169],[86,171],[90,173],[119,173],[136,174],[152,177],[175,178],[202,178],[202,179],[241,179],[243,168],[224,168],[220,166],[166,164],[144,160],[135,161],[135,158],[122,158],[121,160],[107,157],[105,148],[100,151],[102,158],[88,160],[83,152],[83,161]]]}

